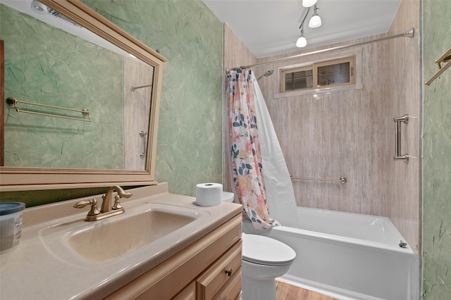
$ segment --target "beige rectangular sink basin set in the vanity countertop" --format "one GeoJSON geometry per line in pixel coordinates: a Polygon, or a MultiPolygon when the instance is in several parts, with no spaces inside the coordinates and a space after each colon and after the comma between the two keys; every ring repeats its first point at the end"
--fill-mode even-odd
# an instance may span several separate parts
{"type": "Polygon", "coordinates": [[[154,245],[152,250],[164,246],[156,245],[159,242],[175,244],[192,231],[187,225],[205,214],[183,206],[147,203],[104,220],[52,225],[42,230],[41,237],[48,249],[66,260],[75,252],[86,261],[103,263],[149,244],[154,245]]]}

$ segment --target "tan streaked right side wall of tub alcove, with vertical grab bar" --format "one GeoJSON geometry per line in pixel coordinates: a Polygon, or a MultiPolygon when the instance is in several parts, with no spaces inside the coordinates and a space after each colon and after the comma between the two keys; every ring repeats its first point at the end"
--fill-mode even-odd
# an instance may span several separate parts
{"type": "MultiPolygon", "coordinates": [[[[390,70],[390,110],[393,115],[409,114],[409,124],[402,124],[402,154],[408,153],[409,163],[391,161],[393,178],[389,185],[390,198],[386,199],[387,216],[409,244],[420,246],[420,144],[421,132],[421,56],[419,46],[419,1],[402,1],[390,27],[395,34],[414,27],[412,39],[393,39],[388,44],[388,67],[390,70]]],[[[394,125],[392,126],[394,127],[394,125]]],[[[393,129],[394,130],[394,129],[393,129]]],[[[394,149],[395,141],[390,139],[394,149]]]]}

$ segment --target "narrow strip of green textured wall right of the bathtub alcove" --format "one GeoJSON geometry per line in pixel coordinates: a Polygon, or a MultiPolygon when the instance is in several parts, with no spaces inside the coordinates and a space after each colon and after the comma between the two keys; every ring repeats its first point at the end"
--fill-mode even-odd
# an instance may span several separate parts
{"type": "MultiPolygon", "coordinates": [[[[424,80],[451,46],[451,1],[423,2],[424,80]]],[[[423,132],[424,299],[451,295],[451,69],[424,87],[423,132]]]]}

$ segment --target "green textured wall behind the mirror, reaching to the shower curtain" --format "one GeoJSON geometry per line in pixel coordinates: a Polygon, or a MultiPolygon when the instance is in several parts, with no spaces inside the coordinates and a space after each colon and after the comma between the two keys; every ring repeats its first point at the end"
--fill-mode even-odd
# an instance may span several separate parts
{"type": "MultiPolygon", "coordinates": [[[[190,196],[199,182],[221,182],[221,20],[201,0],[83,2],[168,58],[163,68],[156,180],[169,182],[170,192],[190,196]]],[[[54,197],[47,191],[7,192],[0,197],[25,199],[31,206],[71,199],[75,192],[68,191],[67,198],[66,193],[54,197]]]]}

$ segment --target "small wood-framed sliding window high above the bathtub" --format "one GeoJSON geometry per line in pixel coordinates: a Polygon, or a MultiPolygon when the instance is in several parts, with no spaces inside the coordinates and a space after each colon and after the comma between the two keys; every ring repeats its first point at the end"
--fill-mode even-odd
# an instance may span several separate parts
{"type": "Polygon", "coordinates": [[[301,68],[280,70],[280,92],[300,89],[355,84],[355,58],[347,57],[324,61],[301,68]]]}

